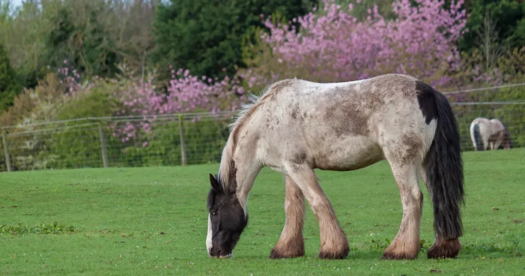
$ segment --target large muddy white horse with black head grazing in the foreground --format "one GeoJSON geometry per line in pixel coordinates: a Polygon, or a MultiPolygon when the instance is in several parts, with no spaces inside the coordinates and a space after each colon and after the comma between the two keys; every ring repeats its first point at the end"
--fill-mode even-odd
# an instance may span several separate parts
{"type": "Polygon", "coordinates": [[[442,94],[411,76],[391,74],[328,84],[280,80],[252,99],[232,124],[217,175],[209,175],[211,257],[232,256],[248,222],[249,192],[267,166],[285,176],[286,187],[285,226],[270,258],[304,255],[306,197],[319,221],[319,258],[344,259],[349,243],[314,169],[357,170],[383,159],[399,188],[403,218],[382,259],[418,255],[423,208],[418,175],[434,205],[435,242],[427,257],[456,257],[463,231],[463,160],[456,118],[442,94]]]}

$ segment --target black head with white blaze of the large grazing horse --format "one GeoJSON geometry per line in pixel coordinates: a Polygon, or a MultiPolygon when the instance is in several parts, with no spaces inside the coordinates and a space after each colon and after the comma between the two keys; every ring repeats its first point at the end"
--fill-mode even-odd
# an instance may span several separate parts
{"type": "Polygon", "coordinates": [[[212,189],[208,193],[208,236],[206,247],[214,258],[232,257],[248,222],[243,207],[237,199],[235,188],[224,189],[213,175],[209,175],[212,189]]]}

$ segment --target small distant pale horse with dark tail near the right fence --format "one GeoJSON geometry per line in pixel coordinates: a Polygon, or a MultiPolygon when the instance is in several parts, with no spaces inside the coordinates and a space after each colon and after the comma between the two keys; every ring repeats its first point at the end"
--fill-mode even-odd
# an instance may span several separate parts
{"type": "Polygon", "coordinates": [[[509,129],[499,119],[476,118],[470,124],[470,139],[476,150],[498,149],[503,143],[504,149],[512,148],[509,129]]]}

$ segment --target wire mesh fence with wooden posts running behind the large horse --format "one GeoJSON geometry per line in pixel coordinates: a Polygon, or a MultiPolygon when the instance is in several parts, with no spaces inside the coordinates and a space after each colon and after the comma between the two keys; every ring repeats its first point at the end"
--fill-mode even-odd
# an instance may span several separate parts
{"type": "MultiPolygon", "coordinates": [[[[525,147],[525,103],[451,103],[463,150],[473,150],[470,122],[499,118],[513,147],[525,147]]],[[[0,171],[176,166],[218,162],[236,112],[81,118],[0,130],[0,171]],[[142,131],[142,128],[151,131],[142,131]],[[124,136],[118,136],[125,129],[124,136]]]]}

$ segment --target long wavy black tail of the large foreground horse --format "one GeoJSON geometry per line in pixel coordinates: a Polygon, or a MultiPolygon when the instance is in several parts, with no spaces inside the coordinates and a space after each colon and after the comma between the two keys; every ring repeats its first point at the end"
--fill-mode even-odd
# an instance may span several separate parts
{"type": "Polygon", "coordinates": [[[434,141],[424,160],[426,186],[434,205],[434,230],[439,239],[458,238],[463,232],[460,205],[465,202],[458,124],[443,94],[421,81],[416,87],[426,124],[437,120],[434,141]]]}

